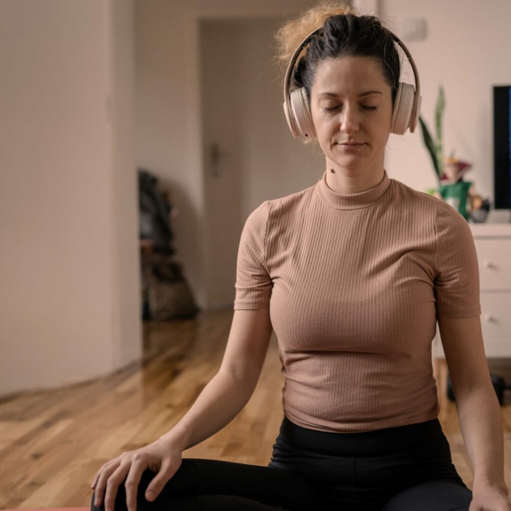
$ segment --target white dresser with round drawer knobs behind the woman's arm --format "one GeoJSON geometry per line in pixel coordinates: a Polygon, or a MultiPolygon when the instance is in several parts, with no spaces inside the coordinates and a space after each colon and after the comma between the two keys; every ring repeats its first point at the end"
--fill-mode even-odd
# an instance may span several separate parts
{"type": "MultiPolygon", "coordinates": [[[[487,358],[511,357],[511,223],[469,223],[479,262],[481,328],[487,358]]],[[[433,358],[445,358],[436,323],[433,358]]]]}

